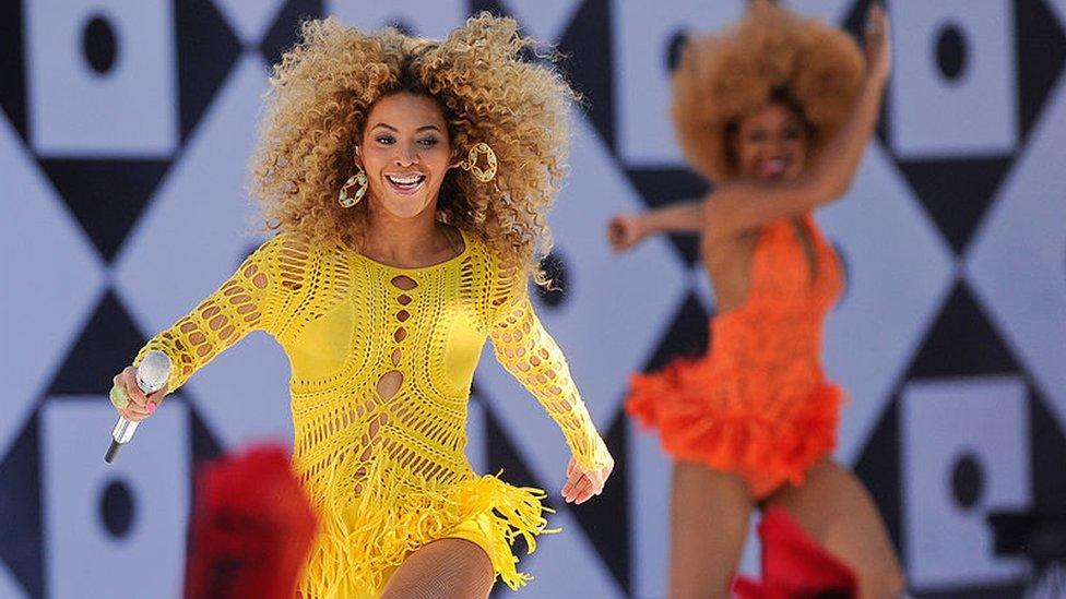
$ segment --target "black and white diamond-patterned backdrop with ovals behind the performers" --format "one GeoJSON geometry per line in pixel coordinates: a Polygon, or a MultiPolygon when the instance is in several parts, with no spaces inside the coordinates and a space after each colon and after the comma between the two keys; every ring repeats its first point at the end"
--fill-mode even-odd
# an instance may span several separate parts
{"type": "MultiPolygon", "coordinates": [[[[855,32],[868,0],[793,0],[855,32]]],[[[288,363],[253,334],[111,467],[106,392],[154,332],[260,239],[245,191],[269,65],[301,16],[442,36],[517,17],[585,104],[553,216],[562,292],[538,296],[618,467],[522,561],[530,597],[661,597],[668,463],[620,403],[629,371],[701,350],[714,298],[691,239],[613,256],[606,218],[704,190],[676,148],[686,32],[744,0],[0,1],[0,597],[174,597],[200,462],[291,441],[288,363]]],[[[1066,0],[887,0],[895,72],[846,197],[818,218],[849,274],[827,368],[851,395],[838,457],[920,597],[1012,597],[994,510],[1066,511],[1066,0]]],[[[566,450],[486,356],[470,455],[558,489],[566,450]]],[[[708,556],[711,558],[710,555],[708,556]]],[[[749,543],[744,568],[757,564],[749,543]]],[[[509,591],[504,591],[506,595],[509,591]]]]}

